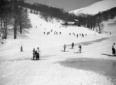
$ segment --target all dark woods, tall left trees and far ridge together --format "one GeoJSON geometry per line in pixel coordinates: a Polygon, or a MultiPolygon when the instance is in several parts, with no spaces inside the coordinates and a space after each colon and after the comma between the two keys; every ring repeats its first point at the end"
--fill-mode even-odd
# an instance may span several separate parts
{"type": "Polygon", "coordinates": [[[31,11],[36,14],[39,12],[45,20],[57,18],[63,20],[65,25],[68,25],[67,22],[74,22],[73,25],[84,26],[92,30],[98,27],[99,33],[102,30],[102,21],[113,19],[116,16],[116,7],[96,15],[80,14],[76,16],[63,9],[39,3],[30,4],[24,0],[0,0],[0,34],[3,34],[4,39],[7,39],[9,25],[13,26],[14,39],[17,38],[17,32],[22,34],[23,29],[31,27],[27,9],[24,7],[32,9],[31,11]]]}

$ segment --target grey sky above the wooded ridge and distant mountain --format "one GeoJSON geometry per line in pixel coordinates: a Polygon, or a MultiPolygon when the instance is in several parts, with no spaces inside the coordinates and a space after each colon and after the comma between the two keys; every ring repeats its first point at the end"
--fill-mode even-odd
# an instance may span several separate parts
{"type": "Polygon", "coordinates": [[[26,0],[26,1],[30,3],[38,2],[53,7],[62,8],[66,11],[71,11],[89,6],[101,0],[26,0]]]}

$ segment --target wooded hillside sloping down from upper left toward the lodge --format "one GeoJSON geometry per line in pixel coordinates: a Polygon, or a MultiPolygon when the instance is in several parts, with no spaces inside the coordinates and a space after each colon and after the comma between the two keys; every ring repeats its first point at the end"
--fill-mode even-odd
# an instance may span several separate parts
{"type": "MultiPolygon", "coordinates": [[[[25,3],[24,3],[25,5],[25,3]]],[[[36,11],[40,12],[40,14],[47,20],[48,18],[57,18],[64,21],[74,21],[75,16],[74,14],[70,14],[66,12],[63,9],[40,4],[40,3],[34,3],[34,4],[26,4],[29,5],[30,8],[35,9],[36,11]]]]}

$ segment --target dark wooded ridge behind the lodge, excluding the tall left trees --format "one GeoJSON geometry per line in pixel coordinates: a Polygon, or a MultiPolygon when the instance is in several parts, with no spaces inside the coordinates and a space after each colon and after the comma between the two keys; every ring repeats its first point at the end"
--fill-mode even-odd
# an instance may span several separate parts
{"type": "Polygon", "coordinates": [[[40,11],[40,14],[45,20],[57,18],[63,20],[63,25],[70,25],[67,22],[74,22],[73,25],[84,26],[92,30],[98,29],[98,32],[102,31],[102,22],[108,19],[113,19],[116,16],[116,7],[109,10],[99,12],[95,15],[80,14],[74,15],[64,11],[63,9],[51,7],[39,3],[33,4],[33,7],[40,11]]]}

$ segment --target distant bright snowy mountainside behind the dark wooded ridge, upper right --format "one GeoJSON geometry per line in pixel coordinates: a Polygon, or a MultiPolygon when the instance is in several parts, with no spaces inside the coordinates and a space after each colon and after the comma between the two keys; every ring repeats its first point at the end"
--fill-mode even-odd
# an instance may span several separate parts
{"type": "Polygon", "coordinates": [[[111,9],[113,7],[116,7],[116,0],[102,0],[88,7],[72,10],[70,11],[70,13],[74,13],[76,15],[81,13],[94,15],[94,14],[97,14],[98,12],[111,9]]]}

